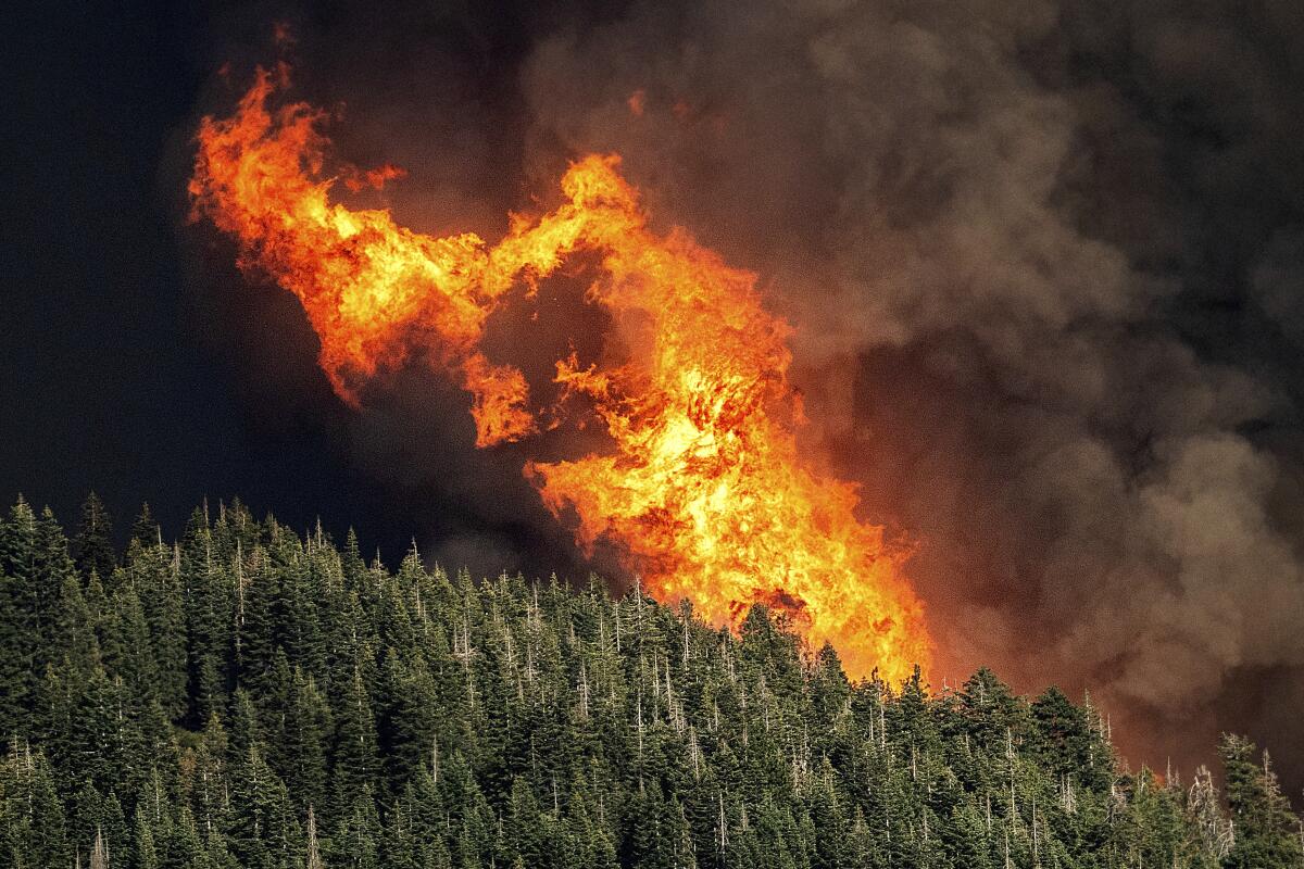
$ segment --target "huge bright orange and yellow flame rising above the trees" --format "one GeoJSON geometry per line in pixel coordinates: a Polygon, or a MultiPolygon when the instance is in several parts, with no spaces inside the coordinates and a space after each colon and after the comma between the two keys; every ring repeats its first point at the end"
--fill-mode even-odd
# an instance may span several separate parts
{"type": "MultiPolygon", "coordinates": [[[[321,339],[321,366],[356,404],[356,384],[424,353],[472,396],[476,443],[537,430],[526,378],[480,349],[488,317],[519,281],[575,253],[600,257],[588,302],[612,317],[618,362],[557,362],[562,416],[592,408],[612,448],[524,473],[585,550],[612,542],[661,601],[687,598],[716,624],[756,603],[788,614],[811,644],[832,642],[853,676],[889,680],[928,664],[923,611],[883,529],[857,520],[854,486],[801,456],[801,403],[788,382],[790,327],[768,313],[756,276],[687,232],[657,235],[615,156],[588,155],[562,178],[565,201],[514,215],[499,242],[434,238],[386,210],[330,201],[322,112],[273,109],[286,82],[259,70],[228,119],[203,119],[189,189],[194,216],[240,245],[243,268],[293,292],[321,339]]],[[[379,184],[398,177],[351,169],[379,184]]]]}

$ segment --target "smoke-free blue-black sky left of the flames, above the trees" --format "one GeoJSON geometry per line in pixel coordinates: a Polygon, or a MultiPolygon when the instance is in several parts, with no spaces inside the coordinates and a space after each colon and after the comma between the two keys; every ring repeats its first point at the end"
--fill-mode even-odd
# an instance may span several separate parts
{"type": "Polygon", "coordinates": [[[124,520],[149,500],[170,528],[205,494],[299,522],[314,504],[361,512],[319,429],[246,425],[183,289],[164,155],[211,74],[202,10],[107,7],[40,4],[5,26],[0,494],[69,519],[94,487],[124,520]]]}

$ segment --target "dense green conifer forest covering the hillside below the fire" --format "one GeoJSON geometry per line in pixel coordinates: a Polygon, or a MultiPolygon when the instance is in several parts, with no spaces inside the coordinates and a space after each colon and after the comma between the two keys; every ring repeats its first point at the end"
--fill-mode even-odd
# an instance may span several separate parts
{"type": "Polygon", "coordinates": [[[391,569],[239,502],[167,541],[20,499],[0,735],[3,869],[1304,866],[1245,737],[1132,771],[1089,697],[852,683],[763,607],[391,569]]]}

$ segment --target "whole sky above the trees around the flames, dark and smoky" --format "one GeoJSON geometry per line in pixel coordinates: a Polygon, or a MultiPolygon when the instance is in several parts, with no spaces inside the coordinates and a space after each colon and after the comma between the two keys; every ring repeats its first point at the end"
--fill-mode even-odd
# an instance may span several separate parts
{"type": "Polygon", "coordinates": [[[408,171],[364,203],[413,228],[493,238],[615,151],[660,228],[756,271],[812,455],[915,547],[939,687],[986,663],[1090,689],[1159,769],[1248,731],[1304,786],[1299,4],[269,3],[13,31],[4,495],[70,516],[94,486],[176,529],[240,494],[387,558],[610,571],[520,476],[574,444],[472,449],[421,365],[342,406],[293,298],[186,223],[198,117],[286,59],[340,159],[408,171]]]}

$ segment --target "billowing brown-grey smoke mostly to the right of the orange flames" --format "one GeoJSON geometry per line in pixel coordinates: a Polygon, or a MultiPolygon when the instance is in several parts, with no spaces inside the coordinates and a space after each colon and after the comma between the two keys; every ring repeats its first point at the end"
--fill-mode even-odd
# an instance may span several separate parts
{"type": "MultiPolygon", "coordinates": [[[[919,543],[936,681],[1090,688],[1161,769],[1249,730],[1297,793],[1304,7],[532,9],[300,18],[304,91],[348,103],[349,159],[409,169],[396,211],[429,229],[492,236],[621,152],[798,324],[814,439],[919,543]]],[[[356,461],[420,481],[451,556],[556,563],[519,456],[468,459],[432,390],[351,422],[356,461]]]]}

